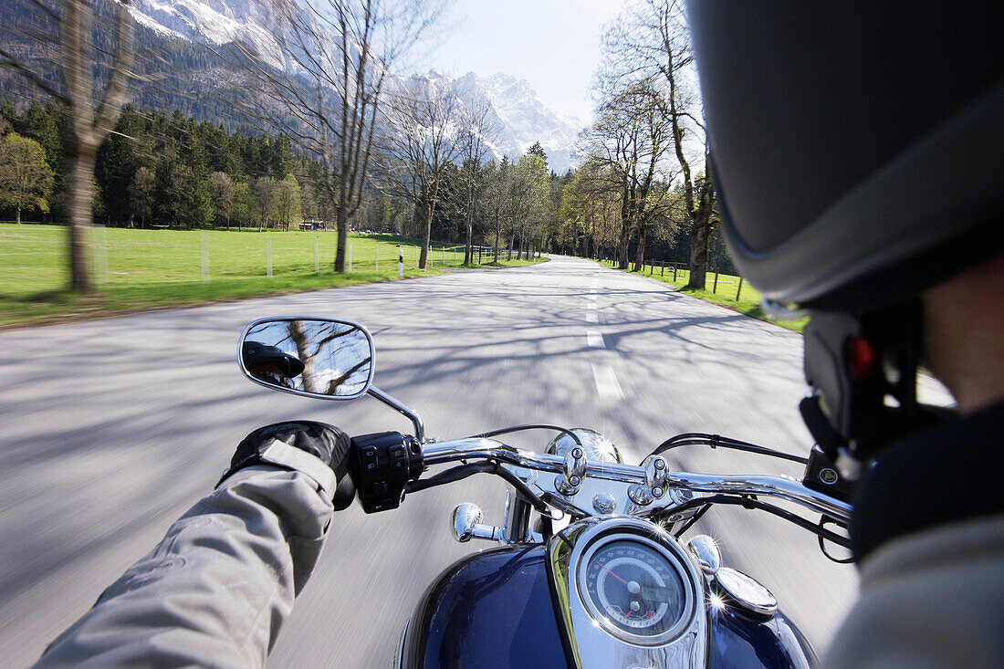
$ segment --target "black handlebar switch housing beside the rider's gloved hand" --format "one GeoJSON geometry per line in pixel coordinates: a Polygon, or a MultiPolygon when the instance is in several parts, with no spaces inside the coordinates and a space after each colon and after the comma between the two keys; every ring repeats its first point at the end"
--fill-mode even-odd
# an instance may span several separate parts
{"type": "Polygon", "coordinates": [[[405,485],[424,469],[422,446],[400,432],[352,437],[348,468],[363,511],[398,508],[405,485]]]}

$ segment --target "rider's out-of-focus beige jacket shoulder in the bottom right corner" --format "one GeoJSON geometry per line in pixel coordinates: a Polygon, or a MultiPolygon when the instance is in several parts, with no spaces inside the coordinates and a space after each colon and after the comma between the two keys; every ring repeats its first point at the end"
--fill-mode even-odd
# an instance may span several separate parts
{"type": "Polygon", "coordinates": [[[822,666],[1004,666],[1004,516],[878,547],[861,566],[860,600],[822,666]]]}

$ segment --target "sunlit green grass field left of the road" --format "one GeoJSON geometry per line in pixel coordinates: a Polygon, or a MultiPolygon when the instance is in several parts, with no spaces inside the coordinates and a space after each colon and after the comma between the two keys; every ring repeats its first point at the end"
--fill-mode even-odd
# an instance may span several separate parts
{"type": "MultiPolygon", "coordinates": [[[[351,271],[334,274],[333,232],[90,232],[97,294],[80,296],[65,291],[65,227],[0,224],[0,325],[393,280],[398,277],[398,244],[405,252],[406,277],[453,271],[464,260],[463,246],[433,242],[423,272],[418,269],[418,240],[351,234],[351,271]]],[[[530,262],[502,260],[496,265],[487,254],[483,261],[471,266],[530,262]]]]}

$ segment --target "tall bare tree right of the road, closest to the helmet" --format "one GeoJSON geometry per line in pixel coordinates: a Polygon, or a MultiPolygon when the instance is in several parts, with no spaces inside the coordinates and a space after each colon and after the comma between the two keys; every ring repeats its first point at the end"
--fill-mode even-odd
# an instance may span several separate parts
{"type": "Polygon", "coordinates": [[[701,121],[701,101],[690,85],[696,81],[687,17],[679,0],[644,0],[605,37],[608,70],[613,77],[646,76],[665,90],[673,145],[680,165],[687,219],[690,224],[689,287],[704,288],[708,249],[715,215],[711,152],[701,121]],[[688,154],[704,147],[704,169],[695,174],[688,154]]]}

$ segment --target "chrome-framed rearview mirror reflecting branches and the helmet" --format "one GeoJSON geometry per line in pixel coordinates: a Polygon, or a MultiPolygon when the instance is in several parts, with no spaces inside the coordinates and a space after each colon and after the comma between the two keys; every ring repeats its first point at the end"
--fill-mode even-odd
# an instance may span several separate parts
{"type": "Polygon", "coordinates": [[[247,378],[266,388],[354,400],[372,383],[373,341],[347,320],[261,318],[244,328],[237,360],[247,378]]]}

